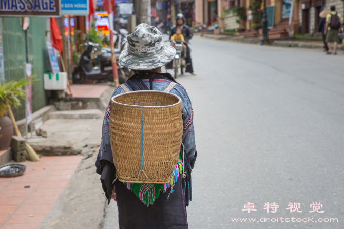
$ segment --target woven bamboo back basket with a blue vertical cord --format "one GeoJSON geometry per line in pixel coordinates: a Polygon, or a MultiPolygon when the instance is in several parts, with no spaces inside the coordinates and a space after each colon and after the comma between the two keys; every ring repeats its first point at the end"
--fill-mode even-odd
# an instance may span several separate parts
{"type": "Polygon", "coordinates": [[[163,91],[132,91],[112,97],[110,109],[110,142],[118,179],[170,182],[183,134],[181,99],[163,91]]]}

